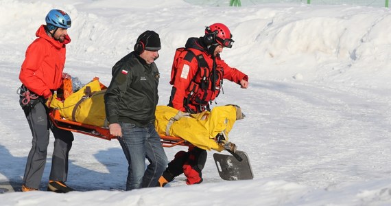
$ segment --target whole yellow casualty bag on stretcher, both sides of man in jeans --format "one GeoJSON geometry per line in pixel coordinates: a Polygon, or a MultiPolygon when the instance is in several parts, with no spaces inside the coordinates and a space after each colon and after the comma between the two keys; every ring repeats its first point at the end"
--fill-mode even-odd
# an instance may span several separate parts
{"type": "MultiPolygon", "coordinates": [[[[50,107],[58,109],[60,116],[73,122],[107,127],[104,93],[99,80],[93,80],[64,101],[54,94],[50,107]]],[[[106,88],[106,87],[104,87],[106,88]]],[[[156,106],[155,126],[159,135],[180,137],[204,150],[224,150],[217,142],[217,135],[228,142],[228,133],[237,119],[242,119],[236,105],[215,106],[211,112],[182,113],[169,106],[156,106]]]]}

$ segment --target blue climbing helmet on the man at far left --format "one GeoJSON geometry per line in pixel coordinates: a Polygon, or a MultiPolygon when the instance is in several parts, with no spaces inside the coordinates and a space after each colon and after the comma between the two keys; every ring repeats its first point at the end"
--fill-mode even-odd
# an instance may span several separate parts
{"type": "Polygon", "coordinates": [[[72,22],[71,17],[66,12],[57,9],[50,10],[46,15],[45,21],[49,31],[56,29],[56,27],[68,29],[71,27],[72,22]]]}

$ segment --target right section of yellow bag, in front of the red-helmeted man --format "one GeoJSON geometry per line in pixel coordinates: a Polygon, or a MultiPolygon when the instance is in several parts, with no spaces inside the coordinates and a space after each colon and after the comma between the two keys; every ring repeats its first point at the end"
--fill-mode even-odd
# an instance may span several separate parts
{"type": "Polygon", "coordinates": [[[159,135],[181,137],[198,148],[221,152],[224,148],[215,137],[223,134],[228,141],[233,124],[242,118],[235,105],[215,106],[211,112],[190,115],[169,106],[157,106],[155,126],[159,135]]]}

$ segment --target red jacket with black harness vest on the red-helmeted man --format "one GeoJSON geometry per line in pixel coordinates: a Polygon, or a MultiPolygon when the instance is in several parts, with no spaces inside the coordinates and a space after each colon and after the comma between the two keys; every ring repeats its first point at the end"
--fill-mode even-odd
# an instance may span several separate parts
{"type": "Polygon", "coordinates": [[[177,49],[172,65],[173,85],[169,106],[180,111],[199,113],[209,107],[222,87],[222,79],[240,84],[248,76],[228,66],[220,55],[213,57],[202,45],[201,38],[189,38],[185,48],[177,49]]]}

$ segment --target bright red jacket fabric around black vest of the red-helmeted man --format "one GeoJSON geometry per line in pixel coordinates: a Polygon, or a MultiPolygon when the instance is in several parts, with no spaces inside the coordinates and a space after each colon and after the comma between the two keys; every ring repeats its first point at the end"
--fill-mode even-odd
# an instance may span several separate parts
{"type": "MultiPolygon", "coordinates": [[[[211,71],[211,69],[213,68],[213,58],[211,54],[208,54],[204,49],[202,49],[202,46],[198,43],[198,41],[195,41],[195,38],[193,39],[189,38],[189,41],[187,45],[189,45],[190,47],[187,46],[187,49],[191,50],[191,52],[193,52],[195,56],[202,54],[211,71]],[[189,43],[189,41],[192,40],[193,42],[189,43]]],[[[188,97],[190,93],[189,84],[191,84],[193,77],[198,71],[198,60],[196,58],[192,58],[191,62],[189,62],[188,60],[185,60],[186,54],[187,51],[182,52],[180,56],[178,56],[178,59],[174,60],[173,67],[176,67],[178,70],[176,71],[175,81],[173,82],[173,88],[171,91],[169,106],[173,106],[174,108],[180,111],[186,111],[185,106],[188,106],[192,111],[197,111],[194,102],[184,105],[185,104],[184,100],[188,97]]],[[[215,62],[217,68],[220,67],[223,69],[224,79],[230,80],[232,82],[236,82],[237,84],[240,84],[240,81],[243,79],[248,80],[248,76],[246,74],[242,73],[241,71],[235,68],[228,66],[226,62],[224,62],[224,60],[220,58],[220,56],[216,57],[215,62]]],[[[206,101],[214,100],[216,95],[217,94],[208,96],[208,98],[206,98],[206,101]]],[[[206,105],[207,104],[199,104],[198,106],[206,106],[206,105]]]]}

